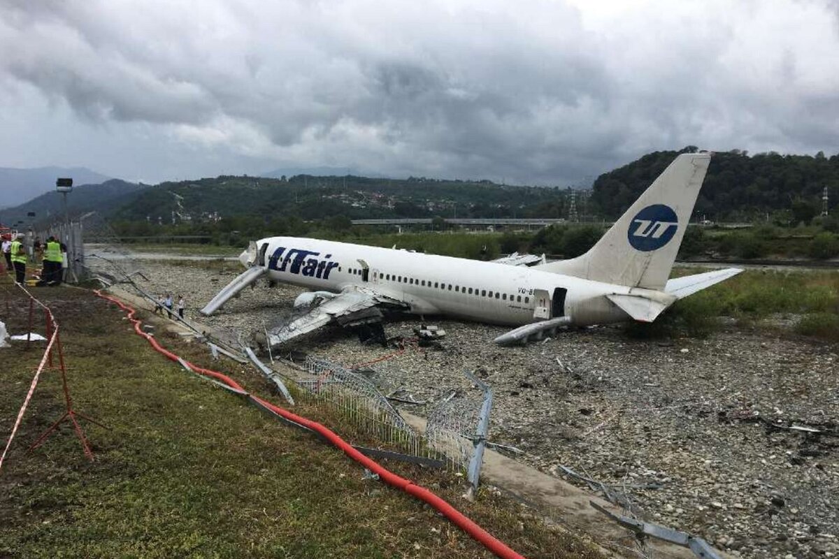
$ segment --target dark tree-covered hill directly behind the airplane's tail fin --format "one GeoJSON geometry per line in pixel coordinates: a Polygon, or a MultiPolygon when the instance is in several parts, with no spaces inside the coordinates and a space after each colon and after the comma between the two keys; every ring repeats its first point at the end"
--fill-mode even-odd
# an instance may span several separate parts
{"type": "MultiPolygon", "coordinates": [[[[607,218],[623,214],[638,195],[679,153],[654,152],[597,178],[591,202],[607,218]]],[[[695,217],[708,220],[809,221],[821,213],[821,195],[828,187],[832,209],[839,202],[839,155],[779,155],[733,150],[715,153],[696,201],[695,217]]],[[[833,213],[831,211],[831,213],[833,213]]]]}

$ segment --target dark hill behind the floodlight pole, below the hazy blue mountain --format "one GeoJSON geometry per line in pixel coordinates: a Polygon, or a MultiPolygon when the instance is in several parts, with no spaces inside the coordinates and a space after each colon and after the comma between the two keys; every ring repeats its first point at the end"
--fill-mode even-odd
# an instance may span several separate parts
{"type": "MultiPolygon", "coordinates": [[[[73,191],[67,194],[67,213],[76,216],[89,211],[99,211],[107,215],[117,208],[130,205],[146,188],[147,185],[119,179],[107,180],[102,184],[82,184],[73,187],[73,191]]],[[[25,204],[0,210],[0,221],[12,225],[18,221],[23,221],[26,225],[32,222],[49,223],[51,220],[63,218],[63,204],[62,194],[52,190],[25,204]],[[29,212],[34,212],[34,218],[27,215],[29,212]]]]}

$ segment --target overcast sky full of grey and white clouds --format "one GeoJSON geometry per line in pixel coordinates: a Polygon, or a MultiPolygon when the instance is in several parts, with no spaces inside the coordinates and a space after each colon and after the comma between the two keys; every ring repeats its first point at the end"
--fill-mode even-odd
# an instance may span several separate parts
{"type": "Polygon", "coordinates": [[[0,0],[0,167],[570,184],[839,153],[836,1],[0,0]]]}

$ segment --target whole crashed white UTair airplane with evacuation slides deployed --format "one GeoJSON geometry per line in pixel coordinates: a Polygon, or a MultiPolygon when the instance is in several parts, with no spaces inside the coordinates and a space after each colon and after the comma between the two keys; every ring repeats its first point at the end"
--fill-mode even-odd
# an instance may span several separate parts
{"type": "Polygon", "coordinates": [[[526,343],[566,326],[652,322],[691,293],[732,277],[727,268],[669,279],[705,179],[710,153],[679,155],[582,256],[555,262],[473,261],[351,243],[268,237],[202,313],[215,312],[259,277],[308,287],[300,316],[268,332],[272,346],[336,321],[374,323],[382,309],[443,314],[518,328],[495,339],[526,343]]]}

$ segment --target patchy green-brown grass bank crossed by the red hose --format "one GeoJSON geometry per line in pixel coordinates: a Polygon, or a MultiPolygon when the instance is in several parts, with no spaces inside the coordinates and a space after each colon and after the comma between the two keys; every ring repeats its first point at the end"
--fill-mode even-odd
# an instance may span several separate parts
{"type": "MultiPolygon", "coordinates": [[[[27,307],[11,292],[11,312],[0,307],[0,319],[20,332],[27,307]]],[[[85,424],[95,463],[66,427],[25,453],[64,411],[59,376],[44,373],[0,471],[0,556],[490,556],[419,501],[362,479],[362,468],[335,448],[165,360],[115,306],[69,287],[37,292],[62,325],[76,409],[110,429],[85,424]]],[[[265,386],[230,362],[211,361],[198,344],[158,337],[187,359],[227,370],[248,390],[265,386]]],[[[4,434],[39,357],[21,344],[0,349],[4,434]]],[[[295,411],[331,420],[312,407],[295,411]]],[[[475,503],[461,499],[464,487],[451,472],[388,467],[433,488],[527,556],[598,556],[509,499],[483,490],[475,503]]]]}

